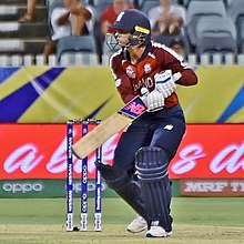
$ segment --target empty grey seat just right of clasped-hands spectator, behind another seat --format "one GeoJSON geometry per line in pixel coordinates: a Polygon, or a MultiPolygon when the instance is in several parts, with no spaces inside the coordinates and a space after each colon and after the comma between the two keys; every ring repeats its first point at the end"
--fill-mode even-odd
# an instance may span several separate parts
{"type": "Polygon", "coordinates": [[[225,6],[222,0],[192,0],[186,9],[186,33],[190,44],[196,45],[196,24],[201,17],[226,17],[225,6]]]}

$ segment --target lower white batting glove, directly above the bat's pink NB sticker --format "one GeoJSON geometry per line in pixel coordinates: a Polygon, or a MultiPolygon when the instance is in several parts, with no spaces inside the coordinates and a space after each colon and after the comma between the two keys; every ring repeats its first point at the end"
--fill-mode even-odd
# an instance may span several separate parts
{"type": "MultiPolygon", "coordinates": [[[[144,89],[144,88],[143,88],[144,89]]],[[[143,94],[144,92],[142,92],[143,94]]],[[[163,109],[164,106],[164,98],[162,93],[157,90],[153,90],[152,92],[146,92],[144,95],[141,96],[143,103],[148,108],[148,112],[155,112],[157,110],[163,109]]]]}

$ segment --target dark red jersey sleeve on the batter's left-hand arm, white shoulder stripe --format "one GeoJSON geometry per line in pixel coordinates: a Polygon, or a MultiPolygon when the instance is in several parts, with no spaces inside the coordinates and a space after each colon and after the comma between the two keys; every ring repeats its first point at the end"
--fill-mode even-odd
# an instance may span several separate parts
{"type": "Polygon", "coordinates": [[[122,69],[121,60],[119,57],[112,57],[110,60],[110,69],[115,81],[116,89],[121,95],[124,103],[131,101],[135,94],[128,78],[126,73],[122,69]]]}

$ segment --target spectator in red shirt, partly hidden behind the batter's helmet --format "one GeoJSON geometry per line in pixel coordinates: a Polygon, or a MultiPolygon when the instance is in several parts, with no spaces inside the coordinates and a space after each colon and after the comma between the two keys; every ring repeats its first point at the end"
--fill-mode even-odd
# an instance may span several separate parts
{"type": "Polygon", "coordinates": [[[134,6],[131,4],[129,0],[113,0],[113,3],[103,10],[101,16],[101,33],[103,37],[105,37],[106,33],[114,32],[109,26],[114,23],[116,17],[125,9],[134,9],[134,6]]]}

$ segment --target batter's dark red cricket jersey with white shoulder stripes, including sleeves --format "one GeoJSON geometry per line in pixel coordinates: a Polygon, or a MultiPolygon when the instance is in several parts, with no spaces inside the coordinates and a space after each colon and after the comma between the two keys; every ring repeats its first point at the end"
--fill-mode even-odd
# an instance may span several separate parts
{"type": "MultiPolygon", "coordinates": [[[[193,85],[197,83],[194,71],[183,59],[170,48],[157,42],[148,45],[136,63],[131,63],[126,50],[119,50],[111,57],[110,68],[124,103],[135,95],[141,95],[142,88],[148,88],[150,92],[153,91],[155,89],[154,75],[164,70],[172,70],[172,73],[181,72],[182,78],[176,82],[177,84],[193,85]]],[[[172,93],[164,102],[165,108],[176,105],[179,103],[176,93],[172,93]]]]}

